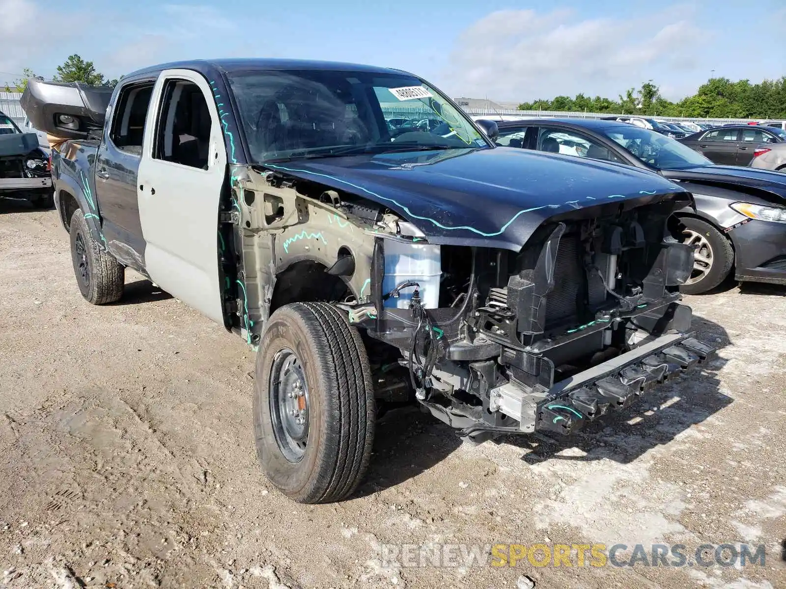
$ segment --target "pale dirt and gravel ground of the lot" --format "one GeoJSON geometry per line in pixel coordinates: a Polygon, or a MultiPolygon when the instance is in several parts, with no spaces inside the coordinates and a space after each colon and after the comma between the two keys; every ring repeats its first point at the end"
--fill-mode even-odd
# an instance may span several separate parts
{"type": "Polygon", "coordinates": [[[786,587],[786,288],[688,298],[718,359],[562,444],[461,444],[391,412],[357,495],[305,507],[257,466],[252,350],[126,281],[87,304],[55,211],[0,200],[2,587],[786,587]],[[384,557],[402,543],[747,543],[766,562],[384,557]]]}

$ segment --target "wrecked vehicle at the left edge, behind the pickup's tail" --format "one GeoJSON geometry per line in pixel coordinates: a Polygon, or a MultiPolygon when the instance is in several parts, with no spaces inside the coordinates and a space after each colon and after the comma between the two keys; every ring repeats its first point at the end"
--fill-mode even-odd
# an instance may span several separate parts
{"type": "Polygon", "coordinates": [[[36,208],[52,207],[49,155],[39,136],[22,133],[0,112],[0,198],[27,199],[36,208]]]}

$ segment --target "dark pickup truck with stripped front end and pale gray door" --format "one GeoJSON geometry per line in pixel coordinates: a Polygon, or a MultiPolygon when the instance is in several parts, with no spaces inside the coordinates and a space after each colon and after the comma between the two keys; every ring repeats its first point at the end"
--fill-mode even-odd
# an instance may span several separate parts
{"type": "Polygon", "coordinates": [[[257,347],[259,460],[296,501],[353,492],[387,408],[478,442],[571,434],[712,353],[679,302],[692,197],[656,174],[496,147],[384,68],[166,64],[106,112],[79,92],[23,97],[72,137],[53,175],[79,289],[117,301],[130,267],[257,347]]]}

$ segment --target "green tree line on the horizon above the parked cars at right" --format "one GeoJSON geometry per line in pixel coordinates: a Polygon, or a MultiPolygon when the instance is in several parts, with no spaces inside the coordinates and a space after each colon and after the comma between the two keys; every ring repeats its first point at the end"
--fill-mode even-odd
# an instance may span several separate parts
{"type": "Polygon", "coordinates": [[[678,102],[668,101],[649,80],[636,90],[626,90],[618,100],[578,93],[574,98],[557,96],[519,104],[520,111],[611,112],[626,115],[674,116],[710,119],[784,119],[786,118],[786,76],[751,84],[711,78],[692,96],[678,102]]]}

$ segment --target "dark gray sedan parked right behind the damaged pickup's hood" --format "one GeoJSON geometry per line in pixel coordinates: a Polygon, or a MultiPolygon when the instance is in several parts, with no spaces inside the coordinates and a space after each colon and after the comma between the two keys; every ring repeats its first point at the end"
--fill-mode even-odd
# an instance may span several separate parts
{"type": "Polygon", "coordinates": [[[714,165],[662,134],[602,119],[506,121],[498,132],[498,145],[636,166],[692,192],[696,211],[678,212],[685,243],[696,246],[682,291],[709,291],[732,272],[740,281],[786,284],[786,174],[714,165]]]}

